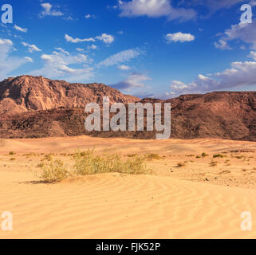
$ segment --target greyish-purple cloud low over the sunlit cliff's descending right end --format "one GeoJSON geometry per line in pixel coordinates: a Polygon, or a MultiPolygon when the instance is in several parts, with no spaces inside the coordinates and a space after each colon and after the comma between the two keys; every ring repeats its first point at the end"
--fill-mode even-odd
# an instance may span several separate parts
{"type": "Polygon", "coordinates": [[[132,88],[143,88],[145,80],[152,80],[143,73],[132,73],[127,79],[112,85],[112,88],[120,89],[123,91],[130,91],[132,88]]]}

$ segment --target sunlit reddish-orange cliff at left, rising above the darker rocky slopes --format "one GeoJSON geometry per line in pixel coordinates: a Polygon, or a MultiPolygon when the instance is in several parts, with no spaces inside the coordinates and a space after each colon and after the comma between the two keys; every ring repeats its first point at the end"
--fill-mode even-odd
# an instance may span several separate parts
{"type": "Polygon", "coordinates": [[[104,84],[70,84],[64,80],[22,76],[0,82],[0,115],[14,116],[61,107],[85,108],[85,104],[98,103],[103,96],[109,96],[111,103],[139,100],[104,84]]]}

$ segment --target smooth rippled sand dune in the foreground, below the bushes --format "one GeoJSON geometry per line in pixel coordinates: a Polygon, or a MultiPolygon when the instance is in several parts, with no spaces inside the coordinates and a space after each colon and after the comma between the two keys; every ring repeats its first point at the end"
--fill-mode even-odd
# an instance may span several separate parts
{"type": "MultiPolygon", "coordinates": [[[[0,211],[14,214],[1,238],[256,237],[240,228],[256,214],[255,190],[161,176],[106,174],[56,185],[31,184],[30,174],[2,172],[0,211]]],[[[256,221],[255,221],[256,222],[256,221]]]]}

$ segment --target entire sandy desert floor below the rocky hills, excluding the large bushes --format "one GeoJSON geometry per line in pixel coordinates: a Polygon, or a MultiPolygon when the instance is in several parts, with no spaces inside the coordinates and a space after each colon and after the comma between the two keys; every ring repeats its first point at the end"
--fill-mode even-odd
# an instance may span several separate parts
{"type": "Polygon", "coordinates": [[[255,151],[256,143],[221,139],[2,139],[0,215],[12,212],[14,230],[0,228],[0,238],[255,238],[255,151]],[[37,182],[45,154],[71,164],[78,147],[160,157],[148,159],[153,175],[37,182]],[[251,231],[241,230],[244,211],[251,231]]]}

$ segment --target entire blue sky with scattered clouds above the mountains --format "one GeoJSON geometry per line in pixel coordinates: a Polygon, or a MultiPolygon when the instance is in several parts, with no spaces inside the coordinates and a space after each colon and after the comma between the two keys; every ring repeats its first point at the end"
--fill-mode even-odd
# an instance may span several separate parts
{"type": "Polygon", "coordinates": [[[13,23],[0,21],[0,80],[29,74],[160,98],[255,90],[245,3],[256,14],[242,0],[1,0],[13,23]]]}

